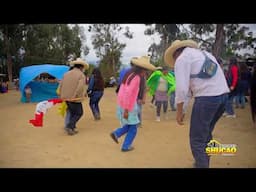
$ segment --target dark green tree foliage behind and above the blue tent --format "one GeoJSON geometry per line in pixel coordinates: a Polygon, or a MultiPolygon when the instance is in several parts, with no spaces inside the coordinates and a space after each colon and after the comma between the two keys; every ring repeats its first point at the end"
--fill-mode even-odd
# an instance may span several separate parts
{"type": "Polygon", "coordinates": [[[86,40],[83,33],[78,25],[0,25],[0,53],[15,58],[8,62],[8,65],[9,68],[13,68],[14,75],[18,76],[17,73],[23,66],[66,63],[70,54],[79,57],[81,50],[84,51],[84,55],[88,54],[88,47],[82,45],[82,40],[86,40]],[[24,60],[19,60],[20,47],[24,47],[26,51],[24,60]]]}

